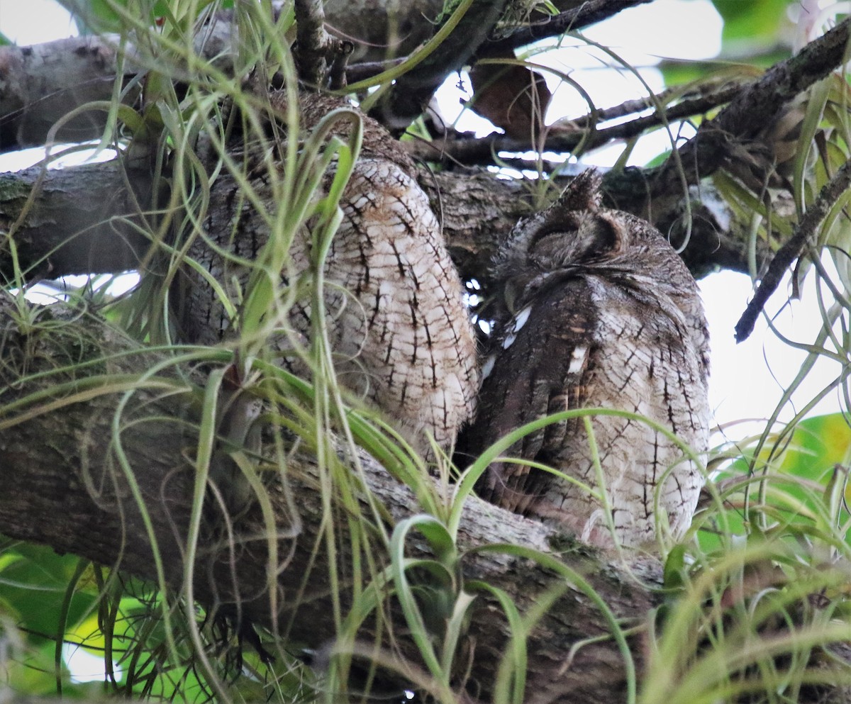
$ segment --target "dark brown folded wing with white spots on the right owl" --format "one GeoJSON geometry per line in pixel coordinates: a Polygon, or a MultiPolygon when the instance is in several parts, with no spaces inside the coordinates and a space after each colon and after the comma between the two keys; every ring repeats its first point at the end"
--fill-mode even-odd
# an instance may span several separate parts
{"type": "MultiPolygon", "coordinates": [[[[511,430],[548,414],[585,405],[597,354],[597,304],[585,278],[563,281],[523,307],[492,343],[485,363],[476,422],[462,439],[477,457],[511,430]]],[[[549,463],[579,430],[572,419],[551,423],[518,440],[505,457],[549,463]]],[[[525,512],[547,473],[518,463],[494,463],[477,485],[479,495],[525,512]]]]}

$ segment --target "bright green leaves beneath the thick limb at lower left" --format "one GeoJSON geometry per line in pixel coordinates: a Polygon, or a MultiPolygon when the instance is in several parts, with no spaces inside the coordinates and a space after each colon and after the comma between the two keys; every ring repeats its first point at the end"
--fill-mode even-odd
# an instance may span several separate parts
{"type": "MultiPolygon", "coordinates": [[[[0,637],[13,644],[0,657],[3,687],[30,695],[62,695],[87,701],[134,695],[157,701],[208,701],[197,673],[194,645],[180,623],[169,654],[167,629],[156,590],[121,581],[117,573],[49,548],[6,542],[0,554],[0,637]],[[103,661],[100,682],[71,679],[64,658],[83,650],[103,661]]],[[[199,618],[204,619],[200,613],[199,618]]],[[[241,646],[204,623],[205,648],[215,654],[221,676],[232,670],[241,646]]],[[[292,661],[267,667],[256,653],[243,658],[246,677],[231,696],[262,701],[276,691],[298,701],[306,673],[292,661]],[[264,684],[265,675],[271,680],[264,684]]]]}

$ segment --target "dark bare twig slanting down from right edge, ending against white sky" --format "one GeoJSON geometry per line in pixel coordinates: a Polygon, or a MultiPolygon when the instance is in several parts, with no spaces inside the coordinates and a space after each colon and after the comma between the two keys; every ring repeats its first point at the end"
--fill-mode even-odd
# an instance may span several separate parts
{"type": "Polygon", "coordinates": [[[815,240],[815,233],[819,225],[830,212],[831,207],[837,202],[848,188],[851,187],[851,162],[845,162],[839,168],[833,178],[821,189],[819,197],[808,208],[801,221],[797,224],[792,236],[785,241],[783,247],[777,250],[774,259],[768,266],[768,271],[762,277],[756,294],[747,305],[739,322],[736,323],[736,342],[744,342],[753,332],[757,317],[762,313],[768,298],[780,286],[780,281],[792,262],[800,257],[804,251],[815,240]]]}

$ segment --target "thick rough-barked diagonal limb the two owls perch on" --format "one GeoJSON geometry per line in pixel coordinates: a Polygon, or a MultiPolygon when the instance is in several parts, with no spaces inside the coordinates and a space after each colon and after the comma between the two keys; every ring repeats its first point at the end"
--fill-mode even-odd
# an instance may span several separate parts
{"type": "MultiPolygon", "coordinates": [[[[140,508],[114,454],[117,436],[113,429],[120,428],[123,456],[144,499],[164,576],[172,588],[180,589],[194,481],[187,459],[194,456],[196,432],[191,409],[198,392],[191,382],[193,377],[188,372],[182,377],[174,373],[141,384],[113,423],[123,396],[117,379],[133,378],[162,357],[136,349],[134,343],[94,318],[84,320],[82,326],[64,325],[60,310],[44,309],[37,324],[23,330],[10,315],[9,299],[3,299],[0,308],[0,399],[6,404],[0,410],[0,531],[47,543],[103,565],[117,565],[144,579],[156,579],[140,508]],[[95,364],[67,367],[70,362],[86,361],[95,364]],[[47,373],[40,378],[27,376],[41,372],[47,373]],[[99,393],[99,385],[92,378],[95,373],[118,375],[110,377],[111,392],[106,390],[105,380],[106,388],[99,393]],[[57,383],[66,383],[60,396],[27,397],[49,391],[57,383]],[[16,401],[20,405],[10,409],[9,404],[16,401]]],[[[195,383],[203,383],[203,379],[195,378],[195,383]]],[[[369,457],[360,459],[368,482],[364,491],[372,491],[394,521],[416,512],[410,491],[369,457]]],[[[284,560],[272,592],[266,587],[269,552],[262,536],[267,531],[260,509],[255,508],[237,522],[232,553],[230,546],[217,542],[213,534],[203,537],[195,593],[208,608],[238,601],[243,615],[254,622],[277,627],[277,632],[287,633],[289,639],[318,648],[333,641],[335,633],[328,593],[329,557],[323,540],[327,533],[314,462],[310,456],[292,458],[287,491],[270,487],[278,554],[284,560]],[[270,600],[272,595],[276,602],[270,600]]],[[[364,514],[373,515],[367,508],[364,514]]],[[[346,512],[340,510],[337,515],[340,523],[334,534],[346,536],[346,512]]],[[[552,537],[553,532],[540,524],[472,500],[460,525],[459,547],[469,551],[488,542],[504,541],[554,554],[549,547],[552,537]]],[[[373,557],[382,563],[387,556],[375,547],[378,545],[376,538],[373,557]]],[[[340,599],[345,609],[351,604],[346,591],[351,554],[345,539],[338,542],[337,549],[337,567],[344,585],[340,599]]],[[[409,551],[412,556],[428,554],[418,541],[410,542],[409,551]]],[[[601,564],[585,548],[574,546],[561,558],[591,583],[620,618],[641,622],[654,604],[646,587],[601,564]]],[[[462,567],[466,579],[484,580],[505,589],[521,613],[560,583],[566,590],[529,637],[526,701],[623,701],[624,665],[611,640],[581,648],[569,666],[565,661],[577,639],[607,630],[600,612],[576,585],[500,551],[469,552],[462,558],[462,567]]],[[[465,647],[471,660],[471,683],[486,697],[509,633],[499,605],[487,594],[477,595],[476,613],[465,647]]],[[[404,657],[418,664],[396,607],[391,614],[397,645],[404,657]]],[[[370,622],[364,625],[360,633],[363,639],[371,638],[372,628],[370,622]]]]}

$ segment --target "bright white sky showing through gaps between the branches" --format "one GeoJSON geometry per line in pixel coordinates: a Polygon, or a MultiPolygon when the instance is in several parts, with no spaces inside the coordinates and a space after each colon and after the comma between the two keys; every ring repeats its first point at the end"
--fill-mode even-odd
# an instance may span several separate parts
{"type": "MultiPolygon", "coordinates": [[[[586,36],[614,49],[632,65],[651,66],[658,56],[680,59],[703,59],[715,56],[720,49],[721,19],[708,0],[657,0],[636,9],[621,13],[591,28],[586,36]],[[657,31],[662,26],[700,27],[700,31],[657,31]],[[648,28],[643,30],[643,28],[648,28]],[[642,54],[642,47],[653,45],[655,56],[642,54]]],[[[76,26],[68,14],[54,0],[0,0],[0,31],[20,44],[46,42],[51,39],[76,34],[76,26]]],[[[601,54],[576,43],[557,51],[539,55],[535,60],[561,71],[571,72],[585,88],[591,88],[597,105],[617,105],[628,98],[646,94],[637,78],[628,71],[611,71],[601,68],[601,54]],[[585,71],[593,71],[589,80],[585,71]]],[[[661,77],[653,69],[643,71],[643,77],[653,90],[662,87],[661,77]]],[[[441,106],[449,119],[453,119],[454,105],[460,94],[451,87],[455,80],[441,91],[441,106]]],[[[555,88],[555,82],[551,86],[555,88]]],[[[584,103],[568,88],[559,88],[553,99],[551,115],[579,115],[585,111],[584,103]]],[[[482,121],[469,112],[460,117],[459,128],[481,129],[482,121]]],[[[647,139],[633,154],[633,163],[641,164],[658,154],[666,146],[664,135],[647,139]]],[[[618,155],[614,148],[597,152],[589,162],[605,165],[618,155]]],[[[37,157],[36,157],[37,158],[37,157]]],[[[0,161],[0,170],[14,168],[11,161],[0,161]]],[[[805,288],[802,302],[787,306],[776,324],[785,335],[800,343],[812,343],[819,329],[820,316],[814,304],[812,281],[805,288]]],[[[785,383],[797,374],[804,353],[790,349],[774,333],[768,332],[763,320],[751,338],[740,345],[733,339],[733,328],[745,304],[751,297],[751,281],[744,275],[722,272],[700,281],[712,335],[711,402],[717,423],[730,423],[745,418],[768,417],[780,400],[785,383]],[[773,376],[776,375],[776,378],[773,376]]],[[[785,302],[787,287],[769,302],[768,309],[775,313],[785,302]]],[[[810,375],[808,383],[795,398],[798,407],[812,398],[828,381],[837,376],[839,366],[820,362],[810,375]]],[[[815,412],[833,412],[840,407],[836,393],[828,396],[815,412]]],[[[788,409],[781,418],[791,418],[788,409]]],[[[753,426],[749,430],[752,430],[753,426]]],[[[744,429],[734,430],[734,436],[744,434],[744,429]]]]}

